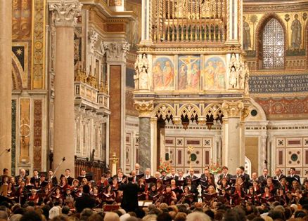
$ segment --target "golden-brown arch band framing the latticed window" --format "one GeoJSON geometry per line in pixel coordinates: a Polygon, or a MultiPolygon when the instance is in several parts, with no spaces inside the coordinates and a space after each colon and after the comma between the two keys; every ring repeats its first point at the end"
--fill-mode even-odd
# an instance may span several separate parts
{"type": "MultiPolygon", "coordinates": [[[[284,36],[284,51],[288,49],[288,30],[285,27],[285,24],[283,23],[283,20],[276,14],[276,13],[268,13],[263,15],[263,17],[259,20],[259,23],[257,25],[256,29],[256,34],[255,34],[255,41],[256,41],[256,61],[257,61],[257,69],[260,69],[260,64],[259,62],[263,60],[263,49],[262,49],[262,34],[264,31],[265,25],[267,25],[267,22],[271,20],[272,18],[276,19],[281,27],[283,27],[283,36],[284,36]]],[[[284,55],[284,65],[283,68],[285,69],[285,64],[286,64],[286,55],[284,55]]]]}

